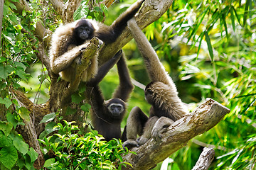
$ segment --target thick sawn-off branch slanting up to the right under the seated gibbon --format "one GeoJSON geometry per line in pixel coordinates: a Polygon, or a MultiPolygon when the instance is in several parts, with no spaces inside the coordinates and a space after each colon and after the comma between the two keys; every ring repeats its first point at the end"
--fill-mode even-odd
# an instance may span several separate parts
{"type": "Polygon", "coordinates": [[[172,124],[167,132],[163,133],[164,138],[160,143],[150,139],[144,145],[132,149],[137,155],[124,155],[124,162],[129,162],[133,167],[127,166],[123,169],[153,168],[170,154],[184,147],[193,137],[213,128],[229,112],[228,108],[208,98],[196,111],[172,124]]]}

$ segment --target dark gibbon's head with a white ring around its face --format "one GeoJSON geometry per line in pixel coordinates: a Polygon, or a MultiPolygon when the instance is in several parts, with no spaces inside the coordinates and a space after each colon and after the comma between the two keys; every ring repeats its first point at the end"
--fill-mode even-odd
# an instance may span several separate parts
{"type": "Polygon", "coordinates": [[[126,104],[120,98],[112,98],[106,101],[106,106],[112,118],[122,118],[126,111],[126,104]]]}

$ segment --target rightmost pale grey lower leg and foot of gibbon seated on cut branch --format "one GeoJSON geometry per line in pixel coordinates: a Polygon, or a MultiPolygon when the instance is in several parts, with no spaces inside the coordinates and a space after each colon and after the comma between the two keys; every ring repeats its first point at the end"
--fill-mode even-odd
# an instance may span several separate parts
{"type": "Polygon", "coordinates": [[[156,142],[161,142],[161,138],[164,137],[163,133],[167,132],[167,129],[171,124],[174,123],[174,120],[171,120],[170,118],[161,117],[159,120],[156,121],[154,124],[154,127],[151,131],[151,137],[156,142]]]}

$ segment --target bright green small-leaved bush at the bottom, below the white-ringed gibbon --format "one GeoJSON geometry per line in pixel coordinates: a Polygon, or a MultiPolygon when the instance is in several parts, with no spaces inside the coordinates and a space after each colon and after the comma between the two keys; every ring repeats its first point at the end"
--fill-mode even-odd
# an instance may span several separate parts
{"type": "Polygon", "coordinates": [[[78,135],[75,122],[64,125],[58,123],[54,135],[39,140],[43,144],[43,153],[48,155],[44,164],[47,169],[121,169],[127,166],[122,161],[122,155],[128,151],[122,148],[120,140],[106,142],[97,131],[88,132],[84,136],[78,135]]]}

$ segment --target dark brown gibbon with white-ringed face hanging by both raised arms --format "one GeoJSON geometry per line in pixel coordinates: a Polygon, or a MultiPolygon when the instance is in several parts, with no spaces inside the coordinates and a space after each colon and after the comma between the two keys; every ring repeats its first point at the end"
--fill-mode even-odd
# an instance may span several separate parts
{"type": "MultiPolygon", "coordinates": [[[[109,141],[113,138],[121,138],[121,122],[126,113],[126,103],[129,94],[131,94],[134,86],[129,77],[129,70],[122,55],[122,50],[117,52],[114,57],[105,62],[99,72],[87,82],[87,96],[91,108],[92,126],[99,132],[100,135],[109,141]],[[118,62],[117,62],[118,61],[118,62]],[[109,70],[117,63],[119,75],[119,86],[112,95],[113,98],[105,101],[100,90],[99,83],[109,70]]],[[[125,132],[124,132],[125,134],[125,132]]],[[[126,135],[122,140],[126,139],[126,135]]]]}

